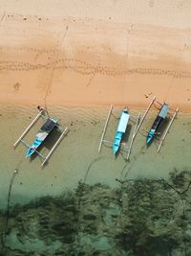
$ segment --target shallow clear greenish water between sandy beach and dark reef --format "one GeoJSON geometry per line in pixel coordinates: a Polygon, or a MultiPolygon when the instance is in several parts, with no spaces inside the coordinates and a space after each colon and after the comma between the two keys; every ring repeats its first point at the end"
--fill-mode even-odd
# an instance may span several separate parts
{"type": "MultiPolygon", "coordinates": [[[[152,125],[156,112],[150,112],[140,133],[135,140],[130,156],[130,162],[125,161],[127,152],[120,151],[115,157],[112,149],[103,145],[98,153],[98,144],[101,131],[107,115],[106,108],[79,108],[56,107],[49,108],[51,116],[57,117],[59,123],[70,128],[56,151],[54,151],[48,165],[40,168],[41,161],[38,156],[26,159],[27,149],[18,145],[14,151],[13,143],[21,132],[32,122],[36,115],[34,106],[4,105],[1,106],[1,147],[0,147],[0,207],[7,205],[8,190],[16,168],[19,174],[15,176],[11,203],[26,203],[32,198],[47,195],[60,195],[63,191],[74,189],[78,181],[87,184],[107,184],[117,187],[116,178],[166,178],[169,172],[177,170],[190,170],[190,132],[191,124],[189,114],[179,114],[178,119],[168,134],[161,151],[157,152],[158,144],[145,146],[145,131],[152,125]]],[[[138,113],[138,109],[132,114],[138,113]]],[[[119,114],[119,112],[118,112],[119,114]]],[[[117,117],[117,112],[115,113],[117,117]]],[[[29,144],[36,131],[42,125],[39,120],[35,127],[26,136],[29,144]]],[[[105,139],[113,141],[117,128],[117,119],[111,117],[105,139]]],[[[41,149],[43,154],[53,147],[56,134],[51,136],[48,144],[41,149]]]]}

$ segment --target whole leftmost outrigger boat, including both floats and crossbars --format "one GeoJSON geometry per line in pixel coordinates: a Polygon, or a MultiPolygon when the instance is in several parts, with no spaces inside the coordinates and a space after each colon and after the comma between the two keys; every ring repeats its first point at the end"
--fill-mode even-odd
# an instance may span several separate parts
{"type": "Polygon", "coordinates": [[[13,147],[14,149],[17,147],[17,145],[22,142],[27,148],[28,151],[26,153],[26,156],[29,157],[31,156],[34,152],[36,152],[40,158],[42,159],[42,164],[41,167],[44,166],[44,164],[48,161],[48,159],[51,157],[53,154],[53,151],[56,149],[58,146],[59,142],[63,138],[64,135],[68,132],[68,128],[61,128],[60,125],[57,124],[57,120],[53,118],[49,118],[48,115],[46,115],[46,111],[40,108],[40,112],[36,115],[36,117],[33,119],[32,123],[28,128],[25,129],[25,131],[21,134],[21,136],[17,139],[17,141],[14,143],[13,147]],[[35,140],[33,141],[32,145],[30,146],[26,141],[24,141],[25,135],[29,132],[29,130],[32,128],[32,126],[38,121],[38,119],[42,117],[45,119],[45,124],[39,129],[39,131],[36,133],[35,140]],[[37,151],[39,146],[45,141],[45,139],[48,137],[48,135],[53,131],[53,128],[57,128],[60,132],[61,135],[53,145],[52,150],[48,153],[47,156],[44,156],[42,153],[37,151]]]}

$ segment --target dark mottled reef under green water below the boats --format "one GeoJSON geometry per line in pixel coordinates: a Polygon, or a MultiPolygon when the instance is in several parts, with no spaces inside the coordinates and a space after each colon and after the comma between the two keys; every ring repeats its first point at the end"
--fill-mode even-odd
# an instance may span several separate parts
{"type": "Polygon", "coordinates": [[[1,210],[0,255],[191,255],[191,172],[117,181],[1,210]]]}

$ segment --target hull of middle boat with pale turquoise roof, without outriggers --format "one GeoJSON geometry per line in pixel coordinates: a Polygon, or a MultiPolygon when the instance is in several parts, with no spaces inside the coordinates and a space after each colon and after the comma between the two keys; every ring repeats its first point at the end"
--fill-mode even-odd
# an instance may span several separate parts
{"type": "Polygon", "coordinates": [[[120,115],[115,140],[114,140],[114,143],[113,143],[113,152],[114,152],[114,154],[117,153],[117,151],[120,147],[120,142],[121,142],[123,134],[126,131],[126,128],[127,128],[128,122],[129,122],[129,118],[130,118],[130,114],[128,112],[128,109],[124,108],[121,112],[121,115],[120,115]]]}

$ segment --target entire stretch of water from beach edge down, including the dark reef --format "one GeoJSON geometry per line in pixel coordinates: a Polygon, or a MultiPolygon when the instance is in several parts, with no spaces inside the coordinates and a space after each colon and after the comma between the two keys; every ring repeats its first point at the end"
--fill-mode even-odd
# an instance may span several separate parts
{"type": "MultiPolygon", "coordinates": [[[[39,157],[25,158],[23,145],[12,149],[36,115],[35,107],[1,106],[0,233],[6,228],[11,185],[5,255],[190,255],[189,114],[179,114],[158,153],[156,143],[145,147],[145,130],[156,115],[151,111],[127,162],[125,151],[117,157],[111,147],[97,151],[107,110],[50,107],[51,116],[70,131],[41,169],[39,157]],[[142,230],[148,231],[146,237],[142,230]]],[[[117,109],[105,139],[114,138],[118,116],[117,109]]],[[[32,142],[42,124],[36,123],[26,141],[32,142]]],[[[53,133],[42,153],[57,136],[53,133]]]]}

